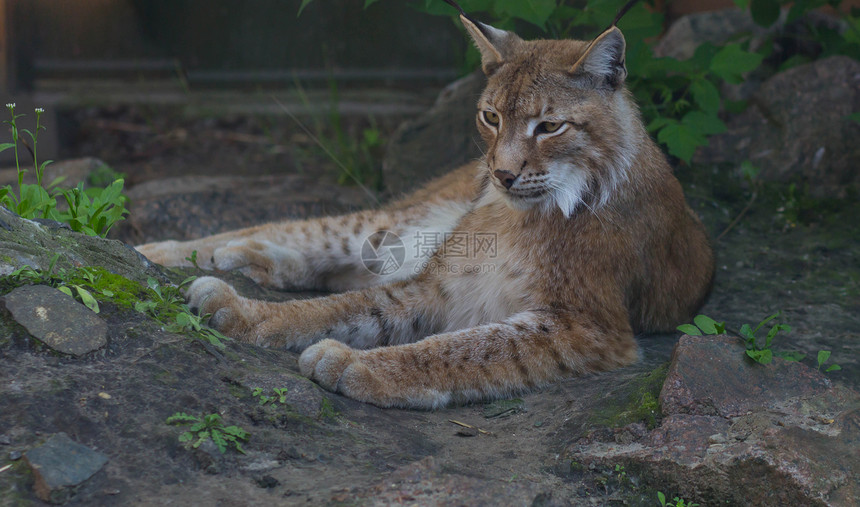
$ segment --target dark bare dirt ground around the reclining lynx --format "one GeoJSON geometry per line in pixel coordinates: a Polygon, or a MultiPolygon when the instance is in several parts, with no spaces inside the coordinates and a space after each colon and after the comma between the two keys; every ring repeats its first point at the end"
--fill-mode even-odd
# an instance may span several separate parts
{"type": "MultiPolygon", "coordinates": [[[[64,134],[73,141],[64,155],[99,157],[131,186],[176,174],[337,176],[303,131],[270,119],[90,108],[67,122],[77,126],[64,134]]],[[[385,135],[396,123],[377,127],[385,135]]],[[[346,129],[359,135],[367,125],[346,129]]],[[[718,257],[703,313],[737,329],[782,310],[793,329],[776,347],[807,352],[813,366],[818,350],[831,350],[842,370],[830,378],[860,388],[858,204],[792,200],[784,188],[750,188],[723,168],[678,174],[718,257]]],[[[641,337],[634,366],[559,382],[506,407],[422,412],[325,392],[298,375],[294,353],[235,343],[219,351],[139,314],[103,312],[110,344],[86,359],[34,352],[20,339],[0,346],[0,436],[9,441],[0,464],[58,431],[110,459],[70,505],[657,505],[656,491],[675,493],[633,473],[583,470],[567,453],[581,439],[615,438],[620,423],[606,414],[623,412],[668,360],[674,335],[641,337]],[[261,406],[257,387],[286,387],[287,399],[261,406]],[[186,450],[182,427],[165,423],[180,411],[219,413],[243,427],[246,454],[186,450]]],[[[39,504],[26,467],[13,465],[0,474],[0,504],[39,504]]]]}

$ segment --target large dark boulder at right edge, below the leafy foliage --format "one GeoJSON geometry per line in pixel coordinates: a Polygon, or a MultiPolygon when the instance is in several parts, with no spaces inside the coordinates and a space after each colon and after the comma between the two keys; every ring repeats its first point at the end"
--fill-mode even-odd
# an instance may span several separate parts
{"type": "Polygon", "coordinates": [[[834,56],[773,76],[728,131],[710,139],[696,161],[750,160],[760,177],[809,185],[816,196],[844,197],[860,185],[860,62],[834,56]]]}

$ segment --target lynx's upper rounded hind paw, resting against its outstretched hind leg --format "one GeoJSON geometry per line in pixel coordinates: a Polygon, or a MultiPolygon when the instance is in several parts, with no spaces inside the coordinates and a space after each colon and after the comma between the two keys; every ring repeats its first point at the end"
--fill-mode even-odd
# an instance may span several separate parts
{"type": "Polygon", "coordinates": [[[304,261],[288,247],[270,241],[240,239],[215,250],[212,260],[222,271],[238,270],[255,282],[279,289],[300,278],[304,261]]]}

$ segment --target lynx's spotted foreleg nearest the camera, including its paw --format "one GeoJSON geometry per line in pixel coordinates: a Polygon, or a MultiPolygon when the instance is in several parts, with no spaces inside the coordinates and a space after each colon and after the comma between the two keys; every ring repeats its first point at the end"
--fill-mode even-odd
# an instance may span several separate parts
{"type": "Polygon", "coordinates": [[[303,375],[350,398],[437,408],[630,364],[637,346],[621,322],[608,327],[588,316],[529,311],[408,345],[355,350],[324,340],[302,353],[299,366],[303,375]]]}

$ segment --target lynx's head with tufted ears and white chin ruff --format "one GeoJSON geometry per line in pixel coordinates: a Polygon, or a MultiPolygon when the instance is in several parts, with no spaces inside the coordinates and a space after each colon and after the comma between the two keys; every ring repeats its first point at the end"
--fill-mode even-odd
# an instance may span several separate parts
{"type": "Polygon", "coordinates": [[[595,210],[627,178],[644,136],[624,88],[624,36],[524,41],[461,16],[481,52],[487,87],[478,130],[493,188],[512,207],[595,210]]]}

